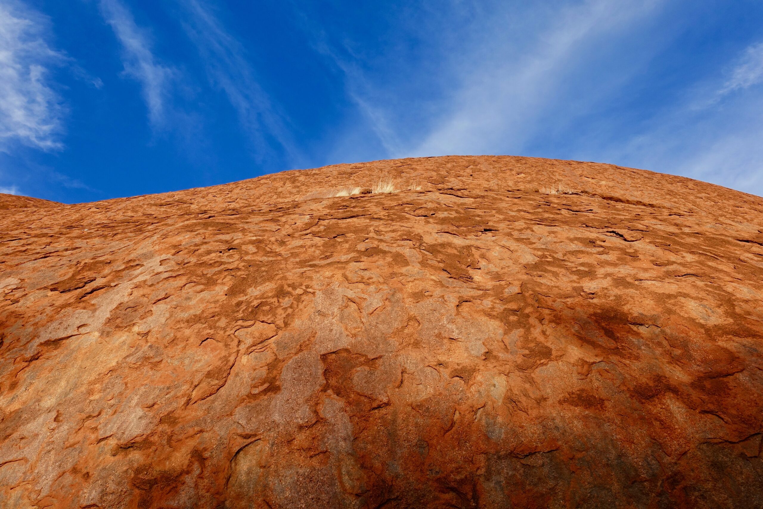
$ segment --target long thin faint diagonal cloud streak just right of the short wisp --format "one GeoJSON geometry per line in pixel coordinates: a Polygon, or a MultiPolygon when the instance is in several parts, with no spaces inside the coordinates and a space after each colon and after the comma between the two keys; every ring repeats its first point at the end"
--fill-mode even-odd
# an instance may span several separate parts
{"type": "Polygon", "coordinates": [[[285,114],[259,85],[242,44],[230,34],[211,8],[200,0],[179,0],[188,17],[184,28],[198,49],[212,85],[221,89],[235,108],[241,125],[258,154],[269,153],[275,143],[296,160],[299,151],[286,126],[285,114]]]}

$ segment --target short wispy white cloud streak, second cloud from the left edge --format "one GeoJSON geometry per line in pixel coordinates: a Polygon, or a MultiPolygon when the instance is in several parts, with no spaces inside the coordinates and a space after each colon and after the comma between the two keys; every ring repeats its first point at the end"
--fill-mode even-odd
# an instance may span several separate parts
{"type": "Polygon", "coordinates": [[[101,0],[99,6],[103,18],[111,25],[121,44],[125,75],[140,82],[151,126],[162,127],[166,121],[175,69],[160,63],[154,56],[150,34],[137,26],[133,14],[124,4],[119,0],[101,0]]]}

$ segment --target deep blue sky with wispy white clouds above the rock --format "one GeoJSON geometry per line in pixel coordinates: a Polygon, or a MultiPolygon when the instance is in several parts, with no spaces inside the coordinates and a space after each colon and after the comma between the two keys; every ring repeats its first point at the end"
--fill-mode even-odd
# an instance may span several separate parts
{"type": "Polygon", "coordinates": [[[763,2],[0,0],[0,192],[445,154],[763,195],[763,2]]]}

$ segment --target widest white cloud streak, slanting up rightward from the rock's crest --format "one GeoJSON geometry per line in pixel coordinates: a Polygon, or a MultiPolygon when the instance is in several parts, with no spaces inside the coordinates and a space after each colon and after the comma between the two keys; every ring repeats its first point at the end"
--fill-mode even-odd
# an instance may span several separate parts
{"type": "Polygon", "coordinates": [[[543,2],[526,13],[497,8],[494,20],[485,20],[489,37],[478,38],[453,61],[462,79],[443,101],[433,128],[407,155],[521,153],[539,131],[549,130],[549,112],[568,119],[579,114],[582,102],[596,100],[593,94],[575,94],[582,69],[601,80],[589,84],[589,91],[630,71],[608,62],[610,72],[601,73],[601,48],[620,46],[663,3],[543,2]],[[523,15],[523,26],[507,29],[523,15]]]}

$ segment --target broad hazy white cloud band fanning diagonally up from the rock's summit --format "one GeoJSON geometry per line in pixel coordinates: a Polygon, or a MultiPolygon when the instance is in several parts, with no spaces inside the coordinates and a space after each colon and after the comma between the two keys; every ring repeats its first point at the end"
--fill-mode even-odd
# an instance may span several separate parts
{"type": "Polygon", "coordinates": [[[468,79],[443,105],[436,127],[406,155],[520,152],[547,128],[543,116],[558,106],[570,86],[568,75],[586,64],[581,55],[595,54],[597,41],[622,37],[660,4],[588,0],[549,9],[547,21],[525,34],[530,46],[494,27],[492,40],[483,39],[462,60],[459,74],[468,79]]]}

